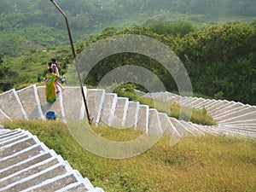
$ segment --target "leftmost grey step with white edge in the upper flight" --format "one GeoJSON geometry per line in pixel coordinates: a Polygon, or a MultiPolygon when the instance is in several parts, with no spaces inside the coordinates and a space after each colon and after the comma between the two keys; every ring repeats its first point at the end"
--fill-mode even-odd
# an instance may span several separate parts
{"type": "Polygon", "coordinates": [[[10,119],[28,119],[16,90],[0,94],[0,108],[10,119]]]}

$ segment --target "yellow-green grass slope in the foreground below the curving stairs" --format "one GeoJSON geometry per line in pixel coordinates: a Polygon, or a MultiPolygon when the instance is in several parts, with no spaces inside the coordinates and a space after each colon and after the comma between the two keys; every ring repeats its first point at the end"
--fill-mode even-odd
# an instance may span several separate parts
{"type": "MultiPolygon", "coordinates": [[[[143,154],[111,160],[81,148],[67,125],[57,121],[4,121],[10,129],[31,131],[61,154],[90,182],[109,191],[247,191],[256,189],[256,140],[237,137],[183,137],[170,147],[170,137],[143,154]]],[[[134,130],[92,127],[113,141],[130,140],[134,130]]]]}

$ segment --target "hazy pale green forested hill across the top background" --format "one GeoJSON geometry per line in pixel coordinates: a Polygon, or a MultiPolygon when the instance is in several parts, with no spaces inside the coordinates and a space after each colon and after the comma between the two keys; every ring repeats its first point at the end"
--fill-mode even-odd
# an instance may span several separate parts
{"type": "MultiPolygon", "coordinates": [[[[74,43],[109,26],[185,20],[196,25],[252,21],[255,0],[56,0],[67,13],[74,43]]],[[[49,0],[1,0],[0,53],[20,48],[68,44],[63,18],[49,0]]]]}

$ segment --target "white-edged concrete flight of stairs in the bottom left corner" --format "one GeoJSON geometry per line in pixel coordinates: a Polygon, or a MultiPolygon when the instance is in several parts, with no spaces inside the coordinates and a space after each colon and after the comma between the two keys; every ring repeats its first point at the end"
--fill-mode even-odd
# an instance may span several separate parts
{"type": "Polygon", "coordinates": [[[75,183],[82,183],[83,191],[103,191],[30,132],[1,128],[0,137],[0,191],[56,191],[75,183]]]}

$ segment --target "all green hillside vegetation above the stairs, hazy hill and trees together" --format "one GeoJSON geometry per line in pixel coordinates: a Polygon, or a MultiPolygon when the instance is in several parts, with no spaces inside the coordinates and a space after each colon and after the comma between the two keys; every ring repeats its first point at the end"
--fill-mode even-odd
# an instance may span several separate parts
{"type": "MultiPolygon", "coordinates": [[[[196,93],[255,105],[255,1],[57,3],[67,12],[78,53],[84,44],[115,34],[146,35],[172,48],[183,61],[196,93]]],[[[43,79],[52,57],[59,61],[61,73],[66,73],[73,57],[65,23],[52,3],[3,0],[0,9],[0,91],[43,79]]],[[[85,83],[95,86],[113,68],[134,62],[158,74],[166,90],[177,91],[159,63],[131,53],[101,61],[85,83]]]]}

